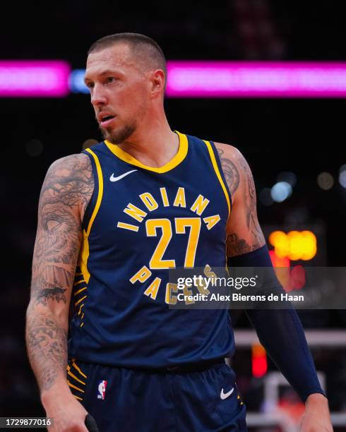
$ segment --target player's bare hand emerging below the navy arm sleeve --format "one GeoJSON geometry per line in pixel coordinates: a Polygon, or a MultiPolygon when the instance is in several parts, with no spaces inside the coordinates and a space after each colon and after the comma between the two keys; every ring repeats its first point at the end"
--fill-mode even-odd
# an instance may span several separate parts
{"type": "Polygon", "coordinates": [[[315,393],[307,398],[300,430],[301,432],[333,432],[326,397],[315,393]]]}

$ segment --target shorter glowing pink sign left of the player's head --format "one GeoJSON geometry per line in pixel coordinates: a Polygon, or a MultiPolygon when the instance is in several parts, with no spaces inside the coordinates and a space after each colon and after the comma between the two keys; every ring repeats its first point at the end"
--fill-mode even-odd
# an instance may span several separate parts
{"type": "Polygon", "coordinates": [[[61,60],[1,60],[1,97],[64,97],[70,66],[61,60]]]}

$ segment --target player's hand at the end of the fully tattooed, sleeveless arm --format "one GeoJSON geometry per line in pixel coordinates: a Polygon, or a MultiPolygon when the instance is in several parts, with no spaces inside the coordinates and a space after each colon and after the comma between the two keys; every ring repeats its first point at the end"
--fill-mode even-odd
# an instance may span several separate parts
{"type": "Polygon", "coordinates": [[[68,395],[45,395],[42,400],[47,417],[53,419],[49,432],[88,432],[85,417],[88,412],[70,392],[68,395]]]}

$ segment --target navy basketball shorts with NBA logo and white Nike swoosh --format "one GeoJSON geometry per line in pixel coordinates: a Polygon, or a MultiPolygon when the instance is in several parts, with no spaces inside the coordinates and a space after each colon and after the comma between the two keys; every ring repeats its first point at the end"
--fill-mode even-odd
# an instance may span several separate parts
{"type": "Polygon", "coordinates": [[[227,364],[152,373],[70,360],[68,385],[100,432],[246,432],[246,408],[227,364]]]}

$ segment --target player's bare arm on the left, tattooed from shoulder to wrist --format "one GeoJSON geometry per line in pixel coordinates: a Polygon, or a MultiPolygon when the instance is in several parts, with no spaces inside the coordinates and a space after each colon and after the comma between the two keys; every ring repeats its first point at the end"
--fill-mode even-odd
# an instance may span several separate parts
{"type": "MultiPolygon", "coordinates": [[[[81,220],[93,188],[88,156],[71,155],[52,164],[40,194],[25,338],[42,404],[56,419],[52,431],[66,429],[64,422],[59,423],[59,410],[61,416],[66,414],[67,401],[85,417],[66,381],[67,331],[81,220]]],[[[71,423],[68,427],[73,428],[71,423]]],[[[86,431],[83,427],[76,430],[86,431]]]]}

